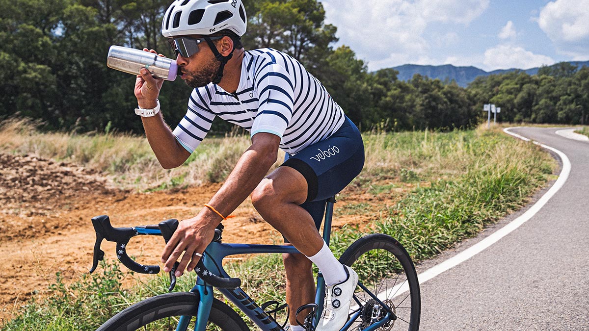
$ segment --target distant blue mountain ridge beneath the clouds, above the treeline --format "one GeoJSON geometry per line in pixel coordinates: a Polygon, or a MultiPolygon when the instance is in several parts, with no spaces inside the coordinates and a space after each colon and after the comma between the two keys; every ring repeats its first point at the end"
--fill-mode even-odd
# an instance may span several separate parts
{"type": "MultiPolygon", "coordinates": [[[[577,65],[577,67],[581,68],[583,65],[589,67],[589,61],[579,62],[579,61],[572,61],[569,62],[570,64],[577,65]]],[[[420,74],[422,76],[427,76],[432,79],[438,78],[441,81],[445,80],[455,80],[456,83],[461,87],[466,87],[469,82],[472,82],[478,76],[488,76],[488,75],[497,75],[497,74],[504,74],[505,72],[516,71],[521,69],[502,69],[502,70],[494,70],[491,72],[484,71],[483,69],[479,69],[476,67],[455,67],[451,64],[445,65],[417,65],[417,64],[403,64],[399,65],[399,67],[393,67],[396,71],[399,71],[399,75],[397,76],[399,80],[406,81],[410,80],[413,75],[420,74]]],[[[529,75],[535,75],[538,73],[538,69],[540,68],[531,68],[524,70],[529,75]]]]}

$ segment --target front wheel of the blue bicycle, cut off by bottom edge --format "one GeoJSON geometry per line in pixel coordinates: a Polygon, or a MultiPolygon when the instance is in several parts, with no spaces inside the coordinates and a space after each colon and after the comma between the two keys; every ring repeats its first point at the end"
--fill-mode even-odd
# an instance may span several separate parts
{"type": "MultiPolygon", "coordinates": [[[[96,331],[176,330],[180,316],[196,316],[198,295],[191,292],[166,293],[145,299],[112,316],[96,331]],[[166,323],[168,327],[166,327],[166,323]]],[[[194,327],[194,318],[188,330],[194,327]]],[[[207,331],[249,331],[246,323],[227,304],[213,299],[207,331]]]]}

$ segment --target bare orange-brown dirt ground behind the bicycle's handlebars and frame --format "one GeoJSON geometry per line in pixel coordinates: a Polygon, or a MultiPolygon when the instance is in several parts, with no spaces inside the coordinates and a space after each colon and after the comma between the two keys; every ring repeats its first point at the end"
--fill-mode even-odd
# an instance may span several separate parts
{"type": "MultiPolygon", "coordinates": [[[[220,184],[179,191],[134,193],[109,188],[105,176],[75,164],[0,154],[0,322],[13,316],[34,293],[47,292],[55,273],[75,280],[88,272],[95,236],[91,218],[110,216],[115,227],[157,224],[194,216],[220,184]]],[[[336,205],[333,227],[362,227],[401,196],[373,194],[350,186],[336,205]]],[[[224,222],[224,242],[272,243],[282,236],[256,213],[249,200],[224,222]]],[[[128,252],[157,264],[161,237],[135,237],[128,252]]],[[[102,244],[107,259],[114,244],[102,244]]]]}

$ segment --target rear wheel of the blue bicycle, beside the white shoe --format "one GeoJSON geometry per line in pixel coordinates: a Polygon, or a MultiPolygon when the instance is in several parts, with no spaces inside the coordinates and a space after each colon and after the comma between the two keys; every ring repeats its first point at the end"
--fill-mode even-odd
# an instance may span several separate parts
{"type": "MultiPolygon", "coordinates": [[[[421,294],[417,273],[411,257],[399,241],[386,234],[369,234],[352,243],[339,261],[352,267],[358,273],[359,282],[370,292],[378,294],[378,298],[398,316],[397,320],[386,323],[378,330],[419,330],[421,294]],[[403,286],[408,287],[409,293],[401,291],[403,286]]],[[[362,330],[378,320],[378,317],[371,316],[373,313],[376,316],[380,313],[382,317],[385,312],[380,312],[378,307],[375,310],[373,307],[378,304],[373,304],[374,300],[369,299],[360,287],[356,287],[355,296],[362,302],[362,321],[356,322],[349,330],[362,330]]],[[[358,303],[354,300],[350,313],[353,310],[358,310],[358,303]]]]}

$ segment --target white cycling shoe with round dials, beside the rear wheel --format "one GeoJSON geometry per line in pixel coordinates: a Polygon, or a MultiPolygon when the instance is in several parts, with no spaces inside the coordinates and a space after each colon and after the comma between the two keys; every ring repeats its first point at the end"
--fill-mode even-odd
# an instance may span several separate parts
{"type": "Polygon", "coordinates": [[[339,331],[348,322],[350,300],[358,285],[358,274],[348,266],[343,266],[348,279],[333,286],[327,286],[325,307],[316,331],[339,331]]]}

